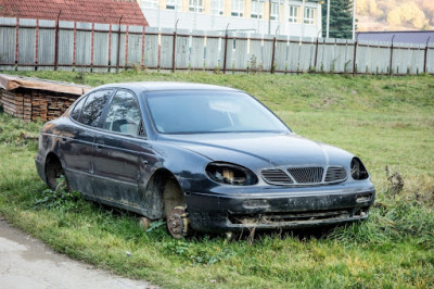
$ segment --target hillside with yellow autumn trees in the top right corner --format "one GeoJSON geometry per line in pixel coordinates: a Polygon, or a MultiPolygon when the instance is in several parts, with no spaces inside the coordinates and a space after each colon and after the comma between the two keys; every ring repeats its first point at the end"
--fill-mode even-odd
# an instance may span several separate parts
{"type": "Polygon", "coordinates": [[[434,0],[357,0],[358,30],[434,29],[434,0]]]}

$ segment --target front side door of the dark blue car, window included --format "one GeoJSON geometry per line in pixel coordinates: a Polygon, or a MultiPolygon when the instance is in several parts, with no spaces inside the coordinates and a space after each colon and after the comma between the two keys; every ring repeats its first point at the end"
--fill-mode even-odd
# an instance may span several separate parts
{"type": "Polygon", "coordinates": [[[133,209],[142,200],[139,183],[141,166],[148,161],[143,150],[143,122],[136,95],[119,89],[114,95],[102,130],[95,135],[93,176],[95,194],[113,205],[133,209]]]}

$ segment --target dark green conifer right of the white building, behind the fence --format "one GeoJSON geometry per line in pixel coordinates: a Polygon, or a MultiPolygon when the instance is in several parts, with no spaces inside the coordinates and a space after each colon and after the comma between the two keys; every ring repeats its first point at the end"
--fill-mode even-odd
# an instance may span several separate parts
{"type": "MultiPolygon", "coordinates": [[[[352,38],[353,37],[353,1],[352,0],[329,0],[330,1],[330,37],[352,38]]],[[[322,35],[327,34],[327,1],[322,4],[322,35]]]]}

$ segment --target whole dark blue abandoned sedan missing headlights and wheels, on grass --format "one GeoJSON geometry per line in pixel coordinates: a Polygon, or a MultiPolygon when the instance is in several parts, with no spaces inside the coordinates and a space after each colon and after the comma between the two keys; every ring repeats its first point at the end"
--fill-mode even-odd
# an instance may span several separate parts
{"type": "Polygon", "coordinates": [[[98,87],[44,124],[35,161],[51,188],[64,175],[87,199],[165,218],[175,238],[365,219],[375,197],[360,159],[212,85],[98,87]]]}

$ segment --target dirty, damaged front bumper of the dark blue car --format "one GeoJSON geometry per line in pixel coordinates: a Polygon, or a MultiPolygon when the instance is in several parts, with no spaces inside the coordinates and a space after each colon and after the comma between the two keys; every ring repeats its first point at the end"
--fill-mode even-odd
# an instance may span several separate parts
{"type": "Polygon", "coordinates": [[[374,198],[372,185],[186,196],[192,228],[208,233],[295,229],[365,219],[374,198]]]}

